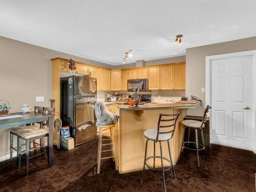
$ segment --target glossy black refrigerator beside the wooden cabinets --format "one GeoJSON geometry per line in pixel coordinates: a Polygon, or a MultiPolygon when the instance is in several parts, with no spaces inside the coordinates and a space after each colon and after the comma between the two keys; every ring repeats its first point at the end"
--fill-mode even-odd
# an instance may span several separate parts
{"type": "Polygon", "coordinates": [[[75,146],[97,137],[93,105],[97,101],[97,79],[89,75],[60,78],[60,119],[69,126],[75,146]]]}

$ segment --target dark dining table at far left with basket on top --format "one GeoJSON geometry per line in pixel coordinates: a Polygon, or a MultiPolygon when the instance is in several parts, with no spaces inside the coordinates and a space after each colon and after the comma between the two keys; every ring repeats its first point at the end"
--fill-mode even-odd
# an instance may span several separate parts
{"type": "Polygon", "coordinates": [[[7,127],[15,127],[30,123],[37,123],[42,121],[49,121],[49,155],[48,155],[48,164],[49,166],[53,166],[53,126],[54,126],[54,115],[51,114],[41,114],[41,113],[11,113],[10,116],[7,116],[6,119],[0,118],[0,129],[4,129],[7,127]],[[22,115],[19,117],[14,117],[13,115],[22,115]],[[7,118],[8,117],[8,118],[7,118]]]}

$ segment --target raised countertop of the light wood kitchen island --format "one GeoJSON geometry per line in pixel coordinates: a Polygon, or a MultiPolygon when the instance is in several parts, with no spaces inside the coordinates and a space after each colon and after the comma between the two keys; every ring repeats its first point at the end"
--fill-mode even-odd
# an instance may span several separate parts
{"type": "Polygon", "coordinates": [[[196,108],[197,103],[146,103],[138,106],[130,107],[129,105],[119,106],[120,111],[142,111],[142,110],[158,110],[158,109],[190,109],[196,108]]]}

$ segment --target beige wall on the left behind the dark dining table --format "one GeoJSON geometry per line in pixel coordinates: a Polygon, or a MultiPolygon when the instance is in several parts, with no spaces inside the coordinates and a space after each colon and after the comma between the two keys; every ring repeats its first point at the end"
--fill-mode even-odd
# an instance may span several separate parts
{"type": "MultiPolygon", "coordinates": [[[[30,106],[50,106],[50,59],[55,57],[112,67],[0,36],[0,99],[10,102],[12,112],[20,112],[24,103],[30,106]],[[45,96],[45,102],[35,102],[36,96],[45,96]]],[[[9,155],[9,132],[8,129],[1,129],[0,158],[6,155],[9,155]]]]}

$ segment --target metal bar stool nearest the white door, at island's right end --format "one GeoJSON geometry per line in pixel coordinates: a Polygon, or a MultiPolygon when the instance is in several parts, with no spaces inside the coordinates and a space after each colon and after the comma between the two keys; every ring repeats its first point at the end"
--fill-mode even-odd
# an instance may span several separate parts
{"type": "MultiPolygon", "coordinates": [[[[203,127],[204,127],[204,123],[206,122],[206,117],[207,117],[207,113],[208,113],[209,109],[211,109],[211,106],[207,105],[205,110],[204,110],[204,116],[203,116],[202,122],[196,121],[196,120],[184,120],[184,121],[182,121],[183,136],[182,136],[181,152],[182,152],[183,148],[187,148],[188,150],[197,151],[198,167],[200,167],[199,151],[204,150],[205,160],[207,160],[205,144],[204,144],[203,127]],[[185,134],[185,129],[186,128],[188,129],[188,140],[184,142],[184,134],[185,134]],[[190,134],[191,129],[195,130],[196,142],[189,141],[189,134],[190,134]],[[201,131],[201,137],[202,137],[202,141],[203,141],[202,144],[198,143],[198,131],[201,131]],[[196,148],[189,147],[189,143],[196,144],[196,148]],[[185,144],[187,144],[187,146],[185,146],[185,144]]],[[[180,152],[180,154],[181,154],[181,152],[180,152]]]]}

